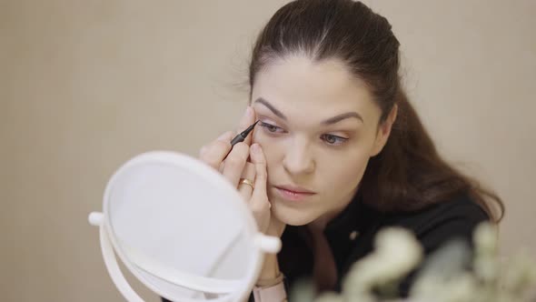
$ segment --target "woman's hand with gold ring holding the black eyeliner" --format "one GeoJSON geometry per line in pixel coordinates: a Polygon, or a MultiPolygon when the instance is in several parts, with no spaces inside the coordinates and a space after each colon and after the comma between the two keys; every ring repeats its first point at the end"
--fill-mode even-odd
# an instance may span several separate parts
{"type": "Polygon", "coordinates": [[[220,171],[238,189],[252,210],[261,232],[279,237],[281,234],[276,233],[279,233],[278,230],[281,227],[277,227],[279,225],[277,223],[271,223],[271,205],[266,193],[266,158],[262,147],[258,144],[251,146],[253,133],[247,136],[242,143],[231,147],[233,137],[254,122],[255,113],[253,108],[248,106],[240,121],[238,132],[226,132],[212,143],[203,146],[200,151],[200,159],[220,171]],[[248,157],[251,162],[248,161],[248,157]],[[246,181],[243,182],[243,179],[246,181]],[[248,185],[247,180],[251,181],[253,186],[248,185]]]}

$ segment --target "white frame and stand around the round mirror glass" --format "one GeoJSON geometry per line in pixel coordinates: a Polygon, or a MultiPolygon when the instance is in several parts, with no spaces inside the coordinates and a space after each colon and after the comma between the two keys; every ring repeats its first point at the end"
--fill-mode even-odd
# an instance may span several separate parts
{"type": "MultiPolygon", "coordinates": [[[[226,193],[229,196],[233,196],[233,199],[236,200],[235,207],[237,210],[243,212],[244,219],[246,219],[245,224],[248,227],[251,227],[251,229],[254,232],[253,238],[253,247],[256,248],[256,250],[253,251],[255,254],[254,257],[256,258],[255,266],[253,267],[253,270],[248,273],[248,275],[245,277],[245,281],[247,284],[243,285],[241,288],[253,288],[254,282],[256,281],[256,278],[260,274],[260,270],[263,265],[263,256],[264,253],[270,253],[275,254],[279,252],[281,249],[281,239],[279,237],[269,237],[265,236],[262,233],[258,231],[257,224],[254,220],[253,214],[251,213],[250,209],[247,207],[247,205],[243,202],[242,196],[238,194],[237,190],[231,186],[221,174],[213,170],[212,167],[206,166],[203,162],[199,161],[198,159],[179,154],[174,152],[168,152],[168,151],[153,151],[144,153],[139,156],[134,156],[131,160],[127,161],[123,166],[121,166],[117,171],[115,171],[114,176],[110,178],[108,181],[108,184],[106,186],[106,189],[104,191],[104,212],[92,212],[88,219],[90,225],[94,227],[99,227],[99,234],[100,234],[100,245],[102,254],[104,257],[104,264],[105,267],[108,270],[108,273],[110,277],[112,277],[112,280],[114,282],[115,287],[119,289],[121,294],[128,300],[128,301],[134,301],[134,302],[143,302],[144,299],[140,297],[134,289],[130,286],[130,284],[125,279],[123,272],[121,271],[117,259],[115,257],[115,254],[117,254],[122,262],[124,263],[124,266],[127,267],[131,273],[134,275],[134,277],[137,277],[144,286],[151,289],[154,293],[158,294],[159,296],[166,297],[168,299],[176,299],[176,297],[170,297],[169,294],[161,292],[158,288],[154,288],[151,284],[148,284],[147,282],[144,282],[144,278],[140,276],[136,269],[133,267],[133,265],[127,260],[126,257],[124,257],[121,248],[119,248],[116,239],[114,237],[114,234],[110,234],[111,232],[111,222],[110,217],[107,214],[107,206],[110,199],[110,192],[112,188],[114,187],[114,180],[120,176],[124,171],[129,169],[129,167],[136,166],[136,165],[143,165],[146,163],[164,163],[166,165],[174,165],[178,168],[188,169],[188,171],[192,171],[192,173],[197,174],[198,176],[202,176],[203,179],[207,179],[207,183],[210,186],[214,186],[214,188],[227,191],[226,193]]],[[[181,286],[184,287],[196,287],[194,289],[203,289],[203,285],[199,285],[198,282],[188,280],[188,278],[182,277],[175,277],[176,279],[180,279],[182,281],[181,286]]],[[[194,278],[194,277],[193,277],[194,278]]],[[[203,277],[202,277],[203,278],[203,277]]],[[[198,277],[195,277],[195,279],[198,279],[198,277]]],[[[206,289],[206,284],[205,284],[206,289]]],[[[224,302],[224,301],[236,301],[236,300],[243,300],[245,298],[249,297],[249,292],[245,290],[244,292],[236,292],[236,293],[230,293],[230,295],[225,295],[221,298],[215,298],[211,299],[211,301],[214,302],[224,302]],[[238,297],[237,297],[238,296],[238,297]]],[[[181,297],[181,301],[184,302],[198,302],[202,301],[200,299],[188,299],[181,297]]]]}

